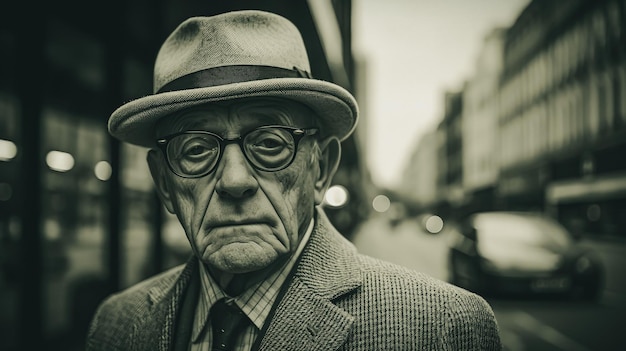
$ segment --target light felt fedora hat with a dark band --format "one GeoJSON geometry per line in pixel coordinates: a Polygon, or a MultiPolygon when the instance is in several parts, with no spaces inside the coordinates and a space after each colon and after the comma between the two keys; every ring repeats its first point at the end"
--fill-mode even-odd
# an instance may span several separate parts
{"type": "Polygon", "coordinates": [[[109,132],[155,146],[155,122],[186,108],[249,97],[303,103],[319,118],[322,136],[346,139],[358,119],[354,97],[314,79],[298,29],[284,17],[245,10],[192,17],[165,40],[154,64],[153,94],[132,100],[109,118],[109,132]]]}

